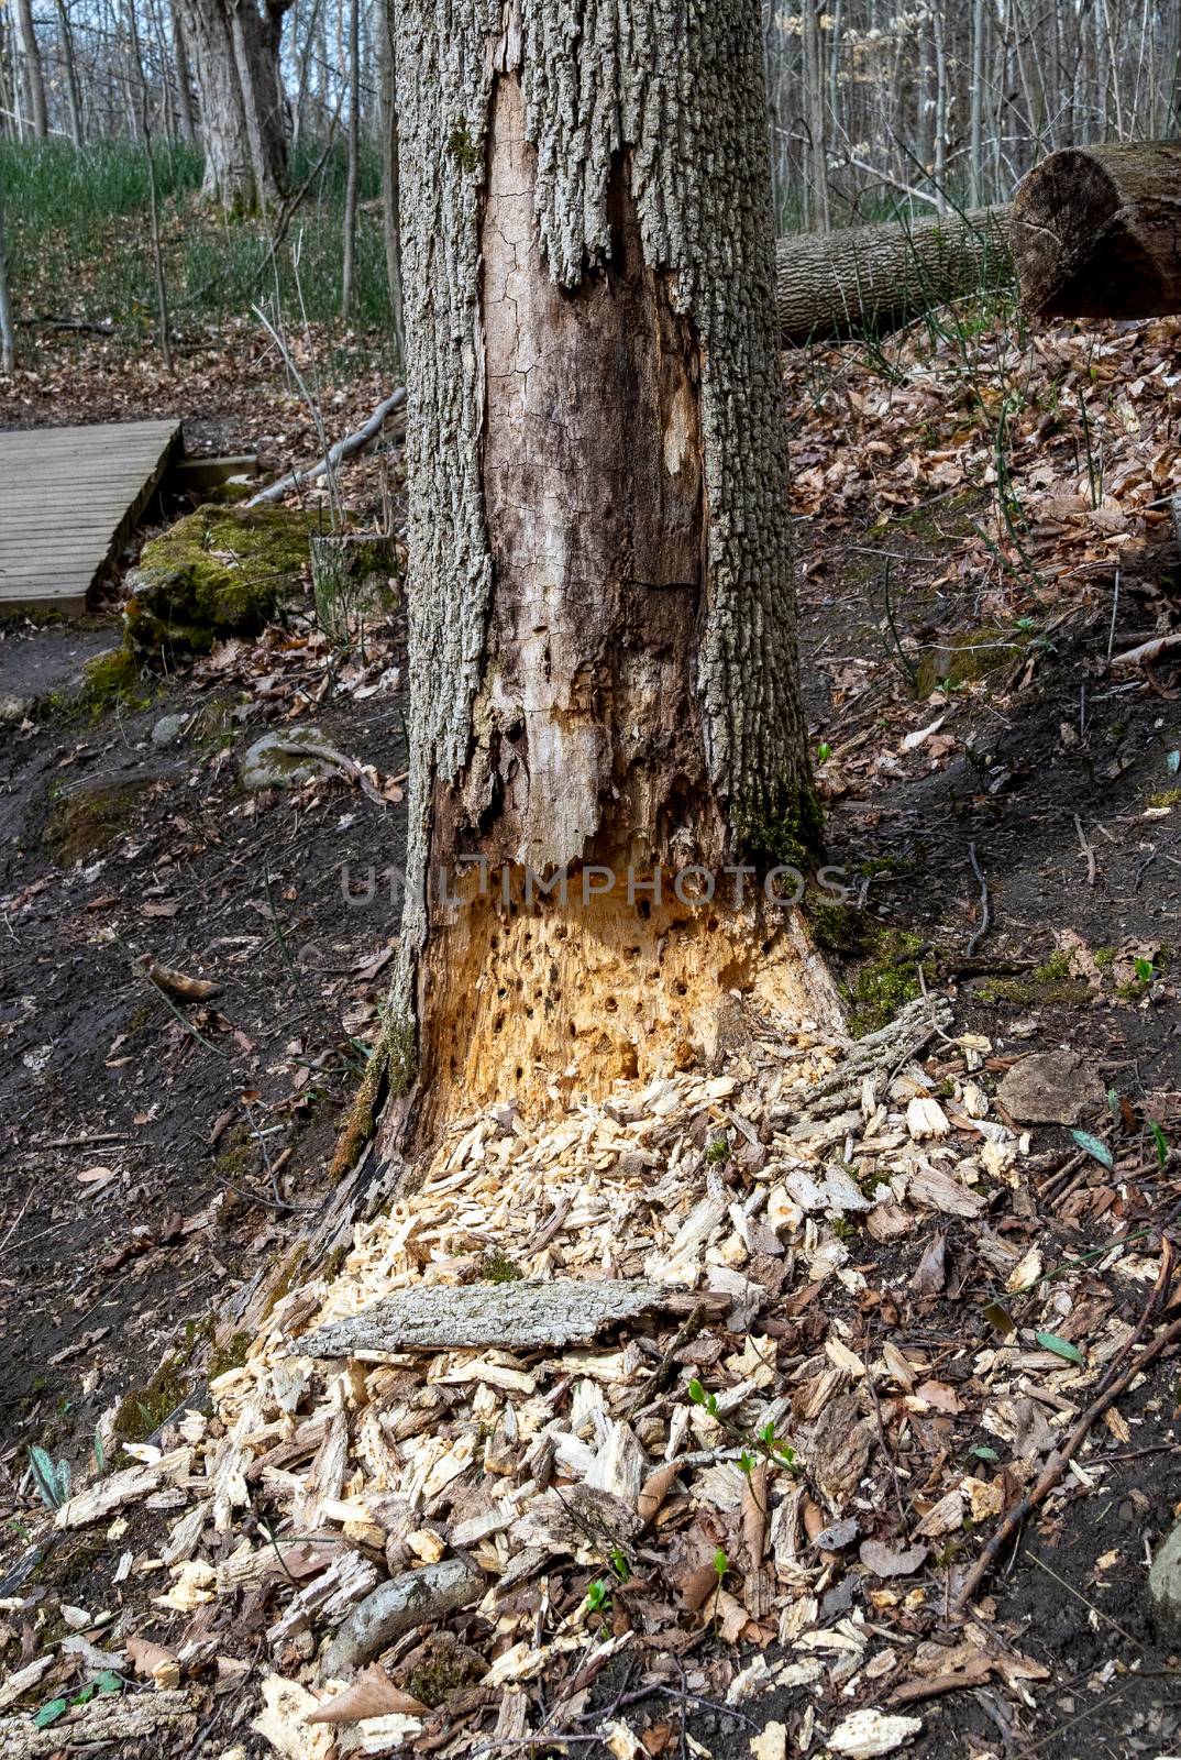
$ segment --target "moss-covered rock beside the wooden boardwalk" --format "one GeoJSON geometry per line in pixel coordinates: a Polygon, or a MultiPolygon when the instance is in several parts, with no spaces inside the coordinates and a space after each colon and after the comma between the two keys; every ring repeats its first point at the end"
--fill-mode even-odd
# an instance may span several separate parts
{"type": "Polygon", "coordinates": [[[199,507],[144,544],[128,576],[127,634],[143,649],[208,651],[252,634],[299,588],[319,516],[287,507],[199,507]]]}

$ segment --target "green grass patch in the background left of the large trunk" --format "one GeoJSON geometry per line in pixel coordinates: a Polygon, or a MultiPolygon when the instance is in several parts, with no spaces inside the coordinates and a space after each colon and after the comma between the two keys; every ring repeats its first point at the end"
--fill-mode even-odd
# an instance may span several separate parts
{"type": "MultiPolygon", "coordinates": [[[[299,188],[320,157],[319,143],[292,155],[290,183],[299,188]]],[[[255,299],[275,296],[268,232],[259,220],[231,220],[201,201],[201,153],[157,146],[160,231],[172,329],[181,338],[234,317],[255,299]]],[[[104,141],[81,153],[65,141],[0,141],[0,183],[9,224],[9,273],[18,319],[111,319],[128,343],[155,336],[157,312],[148,231],[148,165],[128,141],[104,141]]],[[[363,148],[361,202],[378,195],[378,157],[363,148]]],[[[333,326],[340,313],[345,146],[331,153],[276,255],[283,312],[297,319],[294,255],[313,324],[333,326]]],[[[357,216],[357,280],[352,327],[389,329],[385,252],[380,216],[357,216]]]]}

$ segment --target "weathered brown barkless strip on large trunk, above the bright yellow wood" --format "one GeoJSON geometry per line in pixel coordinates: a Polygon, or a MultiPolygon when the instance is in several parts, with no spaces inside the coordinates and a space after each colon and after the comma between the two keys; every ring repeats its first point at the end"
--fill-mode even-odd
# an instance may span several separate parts
{"type": "Polygon", "coordinates": [[[704,579],[692,327],[644,268],[627,180],[613,260],[565,290],[535,151],[496,84],[484,215],[484,493],[496,591],[466,776],[436,847],[535,869],[722,848],[693,704],[704,579]]]}

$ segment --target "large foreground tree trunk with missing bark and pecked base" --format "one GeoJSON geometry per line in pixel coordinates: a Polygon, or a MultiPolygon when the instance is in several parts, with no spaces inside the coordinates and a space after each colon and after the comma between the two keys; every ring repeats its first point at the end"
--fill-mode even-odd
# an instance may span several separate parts
{"type": "Polygon", "coordinates": [[[804,1007],[746,878],[818,831],[759,5],[505,16],[398,26],[414,709],[378,1153],[456,1096],[676,1067],[755,982],[804,1007]]]}

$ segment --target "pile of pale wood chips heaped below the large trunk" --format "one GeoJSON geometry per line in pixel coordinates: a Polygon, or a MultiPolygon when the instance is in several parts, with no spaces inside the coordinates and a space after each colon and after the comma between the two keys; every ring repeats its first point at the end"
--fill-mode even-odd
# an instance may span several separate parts
{"type": "MultiPolygon", "coordinates": [[[[877,1755],[956,1686],[1031,1702],[1047,1670],[994,1602],[945,1616],[1156,1260],[1109,1243],[1045,1274],[1003,1063],[922,998],[857,1044],[766,1023],[720,1074],[539,1128],[470,1118],[276,1302],[208,1413],[56,1526],[171,1512],[120,1566],[158,1616],[157,1684],[260,1653],[253,1728],[282,1755],[598,1732],[630,1760],[676,1753],[702,1704],[755,1755],[877,1755]]],[[[1047,1512],[1098,1494],[1112,1434],[1118,1406],[1047,1512]]]]}

